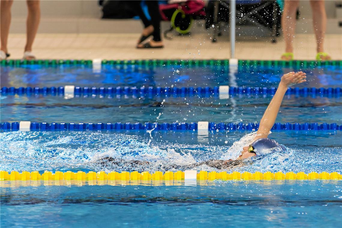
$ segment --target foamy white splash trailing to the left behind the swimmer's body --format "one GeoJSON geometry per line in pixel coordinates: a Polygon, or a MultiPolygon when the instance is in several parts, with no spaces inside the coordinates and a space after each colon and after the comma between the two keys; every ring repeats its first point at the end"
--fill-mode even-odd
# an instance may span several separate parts
{"type": "Polygon", "coordinates": [[[118,161],[148,161],[148,171],[166,167],[167,164],[186,165],[195,162],[190,153],[150,146],[144,143],[144,136],[139,135],[18,131],[1,133],[0,138],[0,169],[7,171],[139,169],[122,166],[125,162],[111,166],[99,162],[105,157],[118,161]]]}

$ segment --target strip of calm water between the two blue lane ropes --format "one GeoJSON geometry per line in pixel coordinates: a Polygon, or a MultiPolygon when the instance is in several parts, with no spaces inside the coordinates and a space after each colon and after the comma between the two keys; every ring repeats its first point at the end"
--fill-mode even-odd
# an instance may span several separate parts
{"type": "MultiPolygon", "coordinates": [[[[341,123],[342,97],[284,98],[276,122],[341,123]],[[310,116],[310,118],[308,118],[310,116]]],[[[217,97],[1,97],[1,122],[259,122],[271,96],[217,97]],[[160,113],[160,115],[159,115],[160,113]],[[29,117],[29,118],[28,118],[29,117]],[[158,119],[157,119],[158,117],[158,119]]]]}

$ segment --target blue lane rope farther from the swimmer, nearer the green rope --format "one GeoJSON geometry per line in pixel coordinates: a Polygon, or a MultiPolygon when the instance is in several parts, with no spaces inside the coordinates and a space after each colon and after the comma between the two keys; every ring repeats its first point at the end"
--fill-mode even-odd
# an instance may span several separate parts
{"type": "MultiPolygon", "coordinates": [[[[229,95],[274,95],[277,88],[271,87],[229,87],[229,95]]],[[[297,96],[341,96],[342,88],[289,88],[286,92],[287,95],[297,95],[297,96]]],[[[64,87],[2,87],[0,91],[1,95],[64,95],[64,87]]],[[[219,87],[214,86],[213,88],[207,87],[136,87],[136,86],[118,86],[118,87],[80,87],[75,86],[75,95],[132,95],[132,96],[218,96],[219,87]]]]}

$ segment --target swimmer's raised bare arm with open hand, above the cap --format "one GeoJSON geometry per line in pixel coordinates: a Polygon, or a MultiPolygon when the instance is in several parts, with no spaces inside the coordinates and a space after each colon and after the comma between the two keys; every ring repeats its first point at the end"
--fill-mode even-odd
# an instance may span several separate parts
{"type": "Polygon", "coordinates": [[[272,129],[274,122],[277,118],[279,108],[280,108],[282,99],[284,98],[284,95],[287,91],[287,88],[290,85],[295,85],[295,84],[305,82],[306,81],[305,75],[306,75],[305,73],[303,73],[302,71],[299,71],[297,73],[289,72],[281,77],[278,89],[276,93],[274,94],[271,102],[269,103],[264,115],[262,116],[260,120],[260,125],[259,125],[259,129],[257,132],[257,136],[254,138],[254,141],[259,138],[267,138],[269,131],[272,129]]]}

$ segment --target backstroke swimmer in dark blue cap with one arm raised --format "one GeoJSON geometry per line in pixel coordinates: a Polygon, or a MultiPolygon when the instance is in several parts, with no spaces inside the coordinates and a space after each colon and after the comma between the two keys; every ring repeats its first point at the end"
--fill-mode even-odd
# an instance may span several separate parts
{"type": "MultiPolygon", "coordinates": [[[[248,146],[242,148],[241,155],[237,158],[237,160],[208,160],[204,162],[196,162],[186,167],[177,164],[168,164],[162,165],[160,169],[170,170],[184,170],[184,169],[191,169],[194,167],[198,167],[200,165],[207,165],[210,167],[214,167],[216,169],[229,169],[230,167],[235,166],[242,166],[246,165],[246,161],[243,159],[254,157],[254,156],[261,156],[266,155],[271,152],[281,151],[283,148],[273,139],[267,138],[269,131],[272,129],[274,122],[277,118],[279,108],[284,98],[284,95],[289,86],[300,84],[306,81],[306,74],[302,71],[297,73],[289,72],[281,77],[278,89],[274,94],[271,102],[269,103],[266,111],[261,118],[259,129],[255,138],[252,140],[252,143],[248,146]]],[[[102,166],[110,166],[110,164],[117,164],[121,167],[125,167],[129,170],[134,170],[136,167],[139,167],[142,171],[146,170],[149,167],[150,162],[148,161],[136,161],[136,160],[129,160],[125,161],[122,159],[114,159],[112,157],[105,157],[102,158],[100,161],[102,166]]]]}

